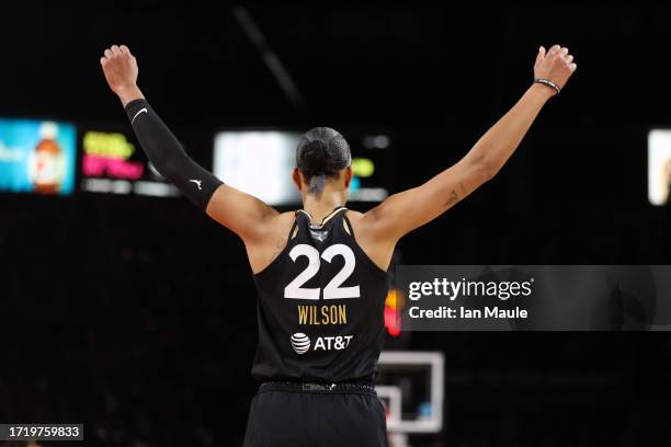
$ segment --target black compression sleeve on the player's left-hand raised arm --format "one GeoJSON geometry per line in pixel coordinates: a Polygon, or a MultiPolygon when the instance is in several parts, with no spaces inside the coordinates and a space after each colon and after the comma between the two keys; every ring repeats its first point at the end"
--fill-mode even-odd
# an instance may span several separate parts
{"type": "Polygon", "coordinates": [[[146,100],[130,101],[126,104],[126,114],[156,170],[205,210],[212,194],[223,182],[184,152],[180,141],[146,100]]]}

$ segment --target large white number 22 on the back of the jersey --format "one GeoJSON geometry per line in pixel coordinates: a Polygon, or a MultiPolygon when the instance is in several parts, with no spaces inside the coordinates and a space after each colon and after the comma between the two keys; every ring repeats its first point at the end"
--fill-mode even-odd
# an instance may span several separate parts
{"type": "Polygon", "coordinates": [[[354,273],[354,266],[356,264],[356,257],[354,252],[348,245],[343,243],[337,243],[323,251],[319,256],[319,251],[312,245],[299,243],[294,247],[289,252],[292,261],[296,262],[299,256],[306,256],[308,259],[308,266],[300,272],[294,280],[292,280],[284,288],[284,298],[296,298],[296,299],[319,299],[319,288],[302,287],[305,283],[319,272],[321,260],[330,263],[333,257],[342,256],[345,261],[342,270],[338,272],[333,279],[323,288],[323,299],[339,299],[339,298],[359,298],[360,289],[359,286],[354,287],[340,287],[349,277],[354,273]]]}

